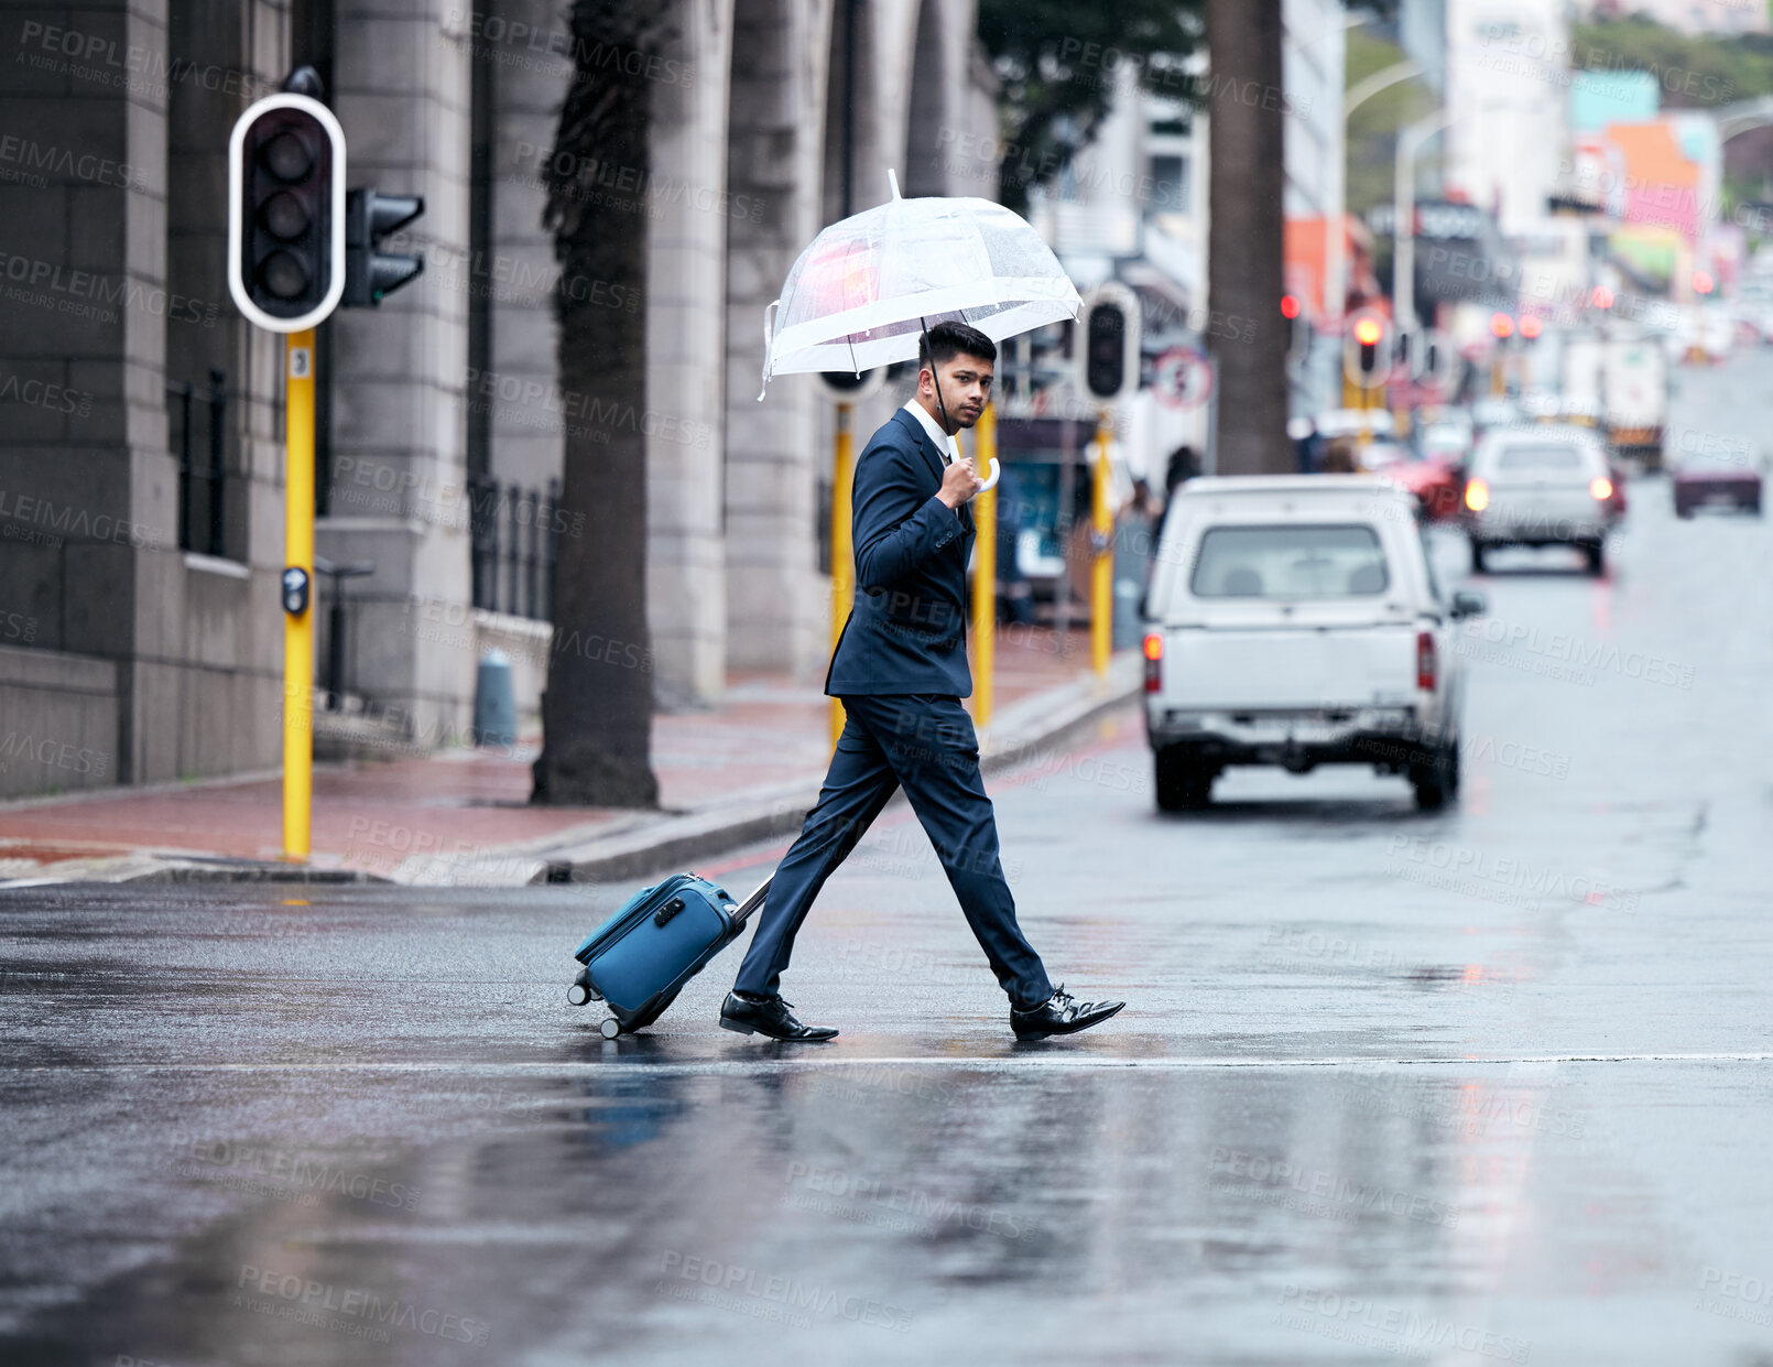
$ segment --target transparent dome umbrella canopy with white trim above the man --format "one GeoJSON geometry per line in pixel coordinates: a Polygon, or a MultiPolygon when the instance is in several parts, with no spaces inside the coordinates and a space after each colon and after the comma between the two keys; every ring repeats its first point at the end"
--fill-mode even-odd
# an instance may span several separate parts
{"type": "Polygon", "coordinates": [[[892,199],[814,238],[764,310],[764,387],[911,360],[938,319],[1002,342],[1078,316],[1076,287],[1016,213],[986,199],[901,199],[886,176],[892,199]]]}

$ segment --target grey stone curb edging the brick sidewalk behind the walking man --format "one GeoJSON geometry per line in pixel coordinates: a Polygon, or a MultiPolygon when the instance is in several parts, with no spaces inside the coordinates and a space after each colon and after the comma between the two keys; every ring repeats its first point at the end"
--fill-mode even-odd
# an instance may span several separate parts
{"type": "MultiPolygon", "coordinates": [[[[1025,699],[991,727],[979,768],[996,775],[1064,745],[1078,730],[1131,702],[1142,688],[1144,661],[1136,654],[1112,660],[1108,677],[1083,679],[1062,690],[1025,699]],[[1027,720],[1021,720],[1023,715],[1027,720]]],[[[778,835],[794,835],[819,798],[821,782],[808,782],[769,800],[741,800],[688,816],[668,816],[640,830],[585,846],[537,855],[530,883],[613,883],[684,867],[778,835]]],[[[904,801],[904,794],[894,796],[904,801]]]]}

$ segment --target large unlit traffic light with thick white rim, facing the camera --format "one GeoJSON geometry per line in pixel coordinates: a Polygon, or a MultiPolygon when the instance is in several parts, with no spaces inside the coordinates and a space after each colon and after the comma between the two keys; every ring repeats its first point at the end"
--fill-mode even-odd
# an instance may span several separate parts
{"type": "Polygon", "coordinates": [[[252,105],[229,137],[227,285],[268,332],[301,332],[344,293],[344,129],[303,94],[252,105]]]}

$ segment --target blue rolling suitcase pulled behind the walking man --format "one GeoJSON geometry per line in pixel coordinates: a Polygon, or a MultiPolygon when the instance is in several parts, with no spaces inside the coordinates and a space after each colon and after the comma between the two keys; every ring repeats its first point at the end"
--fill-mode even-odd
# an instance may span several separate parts
{"type": "Polygon", "coordinates": [[[566,989],[576,1007],[598,998],[610,1014],[605,1039],[652,1025],[702,972],[739,938],[745,918],[762,906],[769,879],[743,904],[695,874],[674,874],[642,888],[573,954],[583,968],[566,989]]]}

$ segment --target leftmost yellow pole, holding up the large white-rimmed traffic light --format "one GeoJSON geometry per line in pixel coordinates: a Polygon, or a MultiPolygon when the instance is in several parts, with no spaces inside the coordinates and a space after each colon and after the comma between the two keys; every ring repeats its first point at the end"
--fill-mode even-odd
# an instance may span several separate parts
{"type": "Polygon", "coordinates": [[[284,612],[284,858],[307,860],[314,810],[314,328],[285,333],[284,567],[309,583],[284,612]]]}

